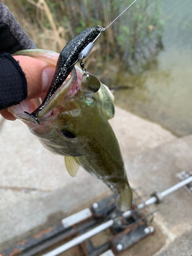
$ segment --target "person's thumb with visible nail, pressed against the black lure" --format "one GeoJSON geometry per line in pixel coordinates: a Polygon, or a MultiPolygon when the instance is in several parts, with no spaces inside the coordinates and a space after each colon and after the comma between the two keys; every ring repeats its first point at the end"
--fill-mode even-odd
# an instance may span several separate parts
{"type": "Polygon", "coordinates": [[[28,98],[33,99],[46,93],[50,87],[55,66],[50,63],[29,57],[29,56],[13,56],[19,62],[27,79],[28,98]]]}

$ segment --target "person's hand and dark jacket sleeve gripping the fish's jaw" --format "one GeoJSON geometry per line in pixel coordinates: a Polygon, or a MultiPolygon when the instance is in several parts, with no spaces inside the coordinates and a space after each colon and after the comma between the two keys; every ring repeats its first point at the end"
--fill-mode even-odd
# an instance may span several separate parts
{"type": "Polygon", "coordinates": [[[0,112],[4,118],[15,120],[7,108],[26,97],[43,97],[51,84],[55,67],[37,58],[11,56],[16,51],[36,46],[2,3],[0,27],[0,112]]]}

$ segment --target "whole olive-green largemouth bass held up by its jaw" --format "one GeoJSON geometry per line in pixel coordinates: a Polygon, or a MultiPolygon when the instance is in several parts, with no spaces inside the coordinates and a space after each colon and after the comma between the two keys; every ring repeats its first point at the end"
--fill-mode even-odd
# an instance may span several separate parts
{"type": "MultiPolygon", "coordinates": [[[[28,55],[46,60],[57,68],[59,54],[46,50],[23,50],[16,55],[28,55]]],[[[56,72],[57,72],[56,68],[56,72]]],[[[83,72],[74,67],[65,82],[39,112],[40,124],[24,113],[34,112],[43,99],[24,100],[9,111],[27,124],[31,133],[53,153],[65,156],[66,167],[75,176],[79,165],[102,180],[115,193],[122,211],[130,209],[132,190],[127,181],[118,141],[109,119],[113,118],[113,94],[100,83],[100,89],[88,94],[81,88],[83,72]],[[40,114],[41,113],[41,114],[40,114]]]]}

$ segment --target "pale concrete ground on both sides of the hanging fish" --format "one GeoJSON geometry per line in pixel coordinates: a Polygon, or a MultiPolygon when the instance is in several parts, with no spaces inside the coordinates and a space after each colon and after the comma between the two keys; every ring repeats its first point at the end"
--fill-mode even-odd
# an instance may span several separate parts
{"type": "MultiPolygon", "coordinates": [[[[142,194],[150,196],[157,188],[163,191],[177,183],[175,174],[190,170],[192,136],[178,139],[160,125],[120,108],[116,108],[110,123],[119,140],[130,183],[133,187],[141,186],[142,194]]],[[[82,168],[75,178],[70,177],[63,157],[42,147],[19,120],[3,123],[0,154],[1,250],[21,241],[19,238],[28,236],[30,230],[36,231],[39,225],[53,225],[93,197],[108,195],[108,187],[82,168]],[[53,223],[51,216],[55,216],[53,223]]],[[[172,250],[174,241],[182,241],[186,234],[190,237],[190,201],[191,195],[181,188],[161,205],[153,206],[159,209],[155,221],[166,238],[162,248],[166,253],[172,250]]]]}

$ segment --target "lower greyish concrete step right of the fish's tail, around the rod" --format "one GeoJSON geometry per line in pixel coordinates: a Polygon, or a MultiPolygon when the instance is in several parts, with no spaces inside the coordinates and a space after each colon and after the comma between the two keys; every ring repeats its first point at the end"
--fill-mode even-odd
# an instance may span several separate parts
{"type": "MultiPolygon", "coordinates": [[[[127,158],[125,166],[132,184],[140,185],[142,193],[150,196],[157,188],[163,191],[178,182],[176,174],[191,171],[192,135],[127,158]]],[[[159,209],[155,220],[166,237],[166,247],[158,256],[192,254],[191,199],[192,195],[180,188],[168,195],[163,203],[152,205],[153,209],[159,209]],[[184,247],[178,241],[183,242],[184,247]]]]}

